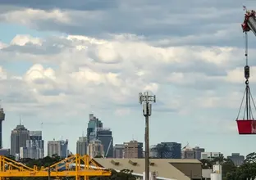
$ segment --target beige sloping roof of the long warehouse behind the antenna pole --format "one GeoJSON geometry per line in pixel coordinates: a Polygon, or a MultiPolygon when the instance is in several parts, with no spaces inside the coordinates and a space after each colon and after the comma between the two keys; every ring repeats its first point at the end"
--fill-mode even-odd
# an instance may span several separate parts
{"type": "MultiPolygon", "coordinates": [[[[144,159],[103,159],[94,158],[94,160],[104,168],[108,169],[130,169],[133,173],[144,172],[144,159]]],[[[172,178],[178,180],[189,180],[190,178],[176,169],[171,163],[176,164],[201,164],[199,160],[176,160],[176,159],[151,159],[150,171],[157,172],[158,177],[172,178]]]]}

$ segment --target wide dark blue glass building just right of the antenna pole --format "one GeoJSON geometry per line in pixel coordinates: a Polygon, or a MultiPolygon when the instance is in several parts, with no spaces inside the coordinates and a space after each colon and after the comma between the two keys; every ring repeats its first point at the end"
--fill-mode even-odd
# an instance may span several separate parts
{"type": "Polygon", "coordinates": [[[159,159],[181,159],[181,143],[161,142],[151,146],[149,156],[159,159]]]}

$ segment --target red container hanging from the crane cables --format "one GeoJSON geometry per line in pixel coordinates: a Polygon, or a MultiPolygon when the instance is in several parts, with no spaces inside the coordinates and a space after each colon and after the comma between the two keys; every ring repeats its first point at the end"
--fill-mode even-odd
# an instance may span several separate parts
{"type": "Polygon", "coordinates": [[[237,119],[236,123],[239,134],[256,134],[256,120],[237,119]]]}

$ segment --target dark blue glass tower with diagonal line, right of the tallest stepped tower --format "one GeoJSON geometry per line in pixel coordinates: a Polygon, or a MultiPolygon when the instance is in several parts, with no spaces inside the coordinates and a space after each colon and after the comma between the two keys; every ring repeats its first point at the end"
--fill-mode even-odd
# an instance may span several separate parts
{"type": "Polygon", "coordinates": [[[113,157],[113,137],[110,128],[98,128],[98,140],[101,141],[106,158],[113,157]]]}

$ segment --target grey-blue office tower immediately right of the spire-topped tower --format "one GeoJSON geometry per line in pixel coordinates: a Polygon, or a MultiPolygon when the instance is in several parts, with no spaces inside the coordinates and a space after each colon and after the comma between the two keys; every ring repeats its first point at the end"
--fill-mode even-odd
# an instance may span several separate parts
{"type": "Polygon", "coordinates": [[[28,157],[34,160],[42,159],[44,155],[44,141],[42,131],[30,131],[30,140],[26,141],[28,157]]]}

